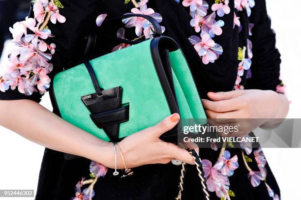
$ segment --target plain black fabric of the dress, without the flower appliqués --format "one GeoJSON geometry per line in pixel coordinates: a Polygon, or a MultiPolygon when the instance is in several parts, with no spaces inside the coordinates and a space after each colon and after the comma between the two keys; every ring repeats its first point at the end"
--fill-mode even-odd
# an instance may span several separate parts
{"type": "MultiPolygon", "coordinates": [[[[85,40],[83,39],[90,32],[98,35],[96,47],[91,53],[92,57],[108,54],[112,48],[118,45],[117,41],[107,39],[104,35],[115,36],[117,29],[123,27],[121,22],[104,23],[100,28],[96,27],[95,19],[100,13],[107,13],[108,17],[115,17],[130,12],[133,8],[131,2],[124,3],[124,0],[60,0],[64,8],[60,9],[61,15],[66,17],[63,24],[49,24],[49,29],[55,37],[46,41],[57,45],[56,53],[51,63],[54,75],[63,70],[64,67],[72,67],[80,62],[83,55],[85,40]]],[[[208,0],[211,5],[214,0],[208,0]]],[[[237,12],[234,0],[230,0],[230,13],[223,16],[225,22],[223,34],[215,36],[214,41],[223,47],[223,54],[214,63],[203,64],[188,37],[196,34],[190,26],[191,16],[189,8],[184,7],[176,0],[149,0],[148,7],[151,7],[162,15],[160,23],[166,28],[163,35],[170,36],[180,44],[191,68],[201,98],[208,98],[209,91],[230,91],[233,89],[237,74],[239,47],[247,46],[249,38],[253,43],[253,58],[251,66],[251,78],[246,79],[246,74],[241,77],[241,85],[245,89],[276,90],[280,84],[280,54],[275,49],[275,34],[271,30],[271,20],[267,15],[265,0],[255,0],[252,14],[248,18],[245,10],[237,12]],[[234,24],[234,12],[240,17],[241,31],[234,24]],[[252,36],[249,37],[249,22],[254,24],[252,36]]],[[[211,10],[211,9],[209,9],[211,10]]],[[[212,11],[209,11],[212,12],[212,11]]],[[[217,16],[218,20],[219,17],[217,16]]],[[[216,20],[216,21],[217,21],[216,20]]],[[[133,28],[126,29],[126,38],[135,38],[133,28]]],[[[33,92],[25,96],[18,90],[9,89],[0,92],[1,100],[30,99],[39,102],[41,95],[33,92]]],[[[233,200],[272,200],[269,196],[266,183],[275,194],[280,196],[276,180],[268,166],[265,181],[253,187],[247,176],[248,171],[243,165],[241,149],[227,149],[232,155],[238,156],[240,167],[230,176],[230,190],[233,200]]],[[[202,159],[208,159],[214,163],[219,151],[212,149],[200,149],[202,159]]],[[[248,155],[249,167],[253,171],[259,171],[254,154],[248,155]]],[[[81,177],[89,177],[90,160],[78,158],[67,161],[63,153],[46,148],[40,175],[36,200],[69,200],[74,197],[74,186],[81,177]]],[[[116,178],[110,170],[107,175],[100,178],[94,186],[95,197],[93,200],[173,200],[178,194],[178,183],[180,177],[180,166],[149,165],[134,169],[131,177],[124,179],[116,178]]],[[[182,200],[202,199],[202,190],[194,166],[188,167],[182,200]]],[[[220,200],[214,193],[211,193],[212,200],[220,200]]]]}

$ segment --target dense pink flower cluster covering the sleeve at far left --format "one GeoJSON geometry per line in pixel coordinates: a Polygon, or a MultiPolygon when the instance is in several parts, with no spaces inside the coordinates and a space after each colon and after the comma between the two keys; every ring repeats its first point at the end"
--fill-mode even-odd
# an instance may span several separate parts
{"type": "MultiPolygon", "coordinates": [[[[45,39],[52,37],[50,29],[41,28],[46,14],[51,16],[51,22],[63,23],[65,18],[59,14],[57,5],[49,0],[35,0],[33,2],[33,18],[26,18],[10,28],[13,35],[13,48],[9,56],[9,64],[0,75],[0,90],[5,91],[10,86],[12,90],[18,87],[20,93],[31,95],[33,92],[43,94],[50,86],[47,75],[52,71],[52,64],[48,63],[55,53],[55,44],[48,45],[45,39]],[[37,23],[38,22],[38,23],[37,23]],[[31,30],[28,34],[28,30],[31,30]],[[46,51],[50,51],[50,54],[46,51]]],[[[43,25],[44,27],[44,25],[43,25]]]]}

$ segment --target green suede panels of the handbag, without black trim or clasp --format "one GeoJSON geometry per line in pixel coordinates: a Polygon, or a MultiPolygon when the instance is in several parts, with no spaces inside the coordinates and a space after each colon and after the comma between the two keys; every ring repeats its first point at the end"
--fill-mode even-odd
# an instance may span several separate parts
{"type": "MultiPolygon", "coordinates": [[[[147,40],[90,61],[99,85],[104,89],[121,86],[122,104],[129,103],[129,120],[120,124],[119,138],[155,125],[171,114],[153,65],[150,42],[147,40]]],[[[170,62],[182,118],[206,118],[181,50],[170,53],[170,62]]],[[[95,92],[84,64],[58,73],[54,77],[53,89],[63,119],[110,141],[92,122],[89,110],[81,101],[81,96],[95,92]]]]}

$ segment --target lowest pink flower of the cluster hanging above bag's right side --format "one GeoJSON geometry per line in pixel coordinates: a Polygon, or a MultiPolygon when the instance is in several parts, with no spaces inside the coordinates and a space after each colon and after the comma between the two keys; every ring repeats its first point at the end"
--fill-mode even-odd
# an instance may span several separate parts
{"type": "Polygon", "coordinates": [[[204,64],[214,62],[222,54],[222,47],[216,44],[207,33],[202,34],[201,37],[202,39],[193,35],[188,39],[194,45],[194,49],[198,52],[199,56],[202,57],[204,64]]]}

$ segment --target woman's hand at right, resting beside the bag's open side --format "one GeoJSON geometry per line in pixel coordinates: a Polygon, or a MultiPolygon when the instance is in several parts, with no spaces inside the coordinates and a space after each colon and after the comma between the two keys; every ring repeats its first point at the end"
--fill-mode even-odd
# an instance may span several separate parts
{"type": "Polygon", "coordinates": [[[211,125],[239,125],[239,131],[228,136],[244,136],[259,126],[271,129],[279,125],[289,109],[285,95],[271,90],[209,92],[208,97],[212,101],[202,99],[202,102],[211,125]]]}

